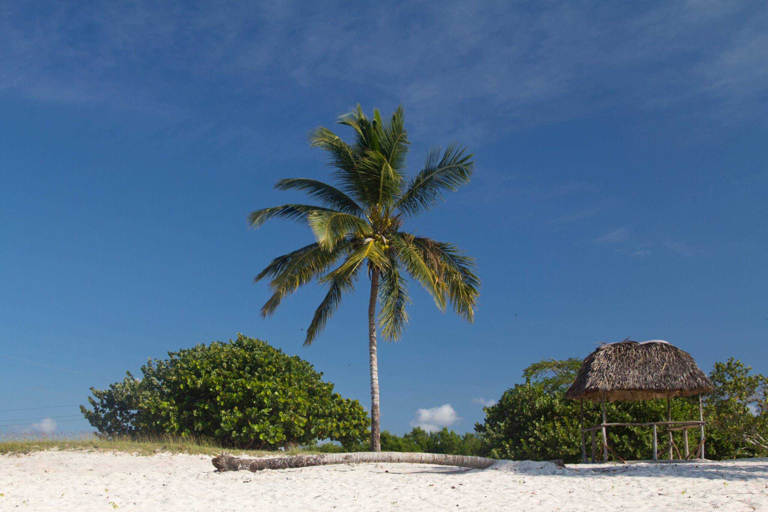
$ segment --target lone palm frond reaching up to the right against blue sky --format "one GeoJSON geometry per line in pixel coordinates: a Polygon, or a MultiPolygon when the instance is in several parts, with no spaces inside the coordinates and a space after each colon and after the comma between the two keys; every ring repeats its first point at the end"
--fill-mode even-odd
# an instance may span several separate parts
{"type": "Polygon", "coordinates": [[[451,143],[441,158],[440,148],[432,148],[424,168],[410,181],[396,207],[407,215],[428,211],[442,198],[442,191],[456,191],[466,185],[472,177],[475,162],[470,160],[472,153],[465,155],[465,151],[451,143]]]}

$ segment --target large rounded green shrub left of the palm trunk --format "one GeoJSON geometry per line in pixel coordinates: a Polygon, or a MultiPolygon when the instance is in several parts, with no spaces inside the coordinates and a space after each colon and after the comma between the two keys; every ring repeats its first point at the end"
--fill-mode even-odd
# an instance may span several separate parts
{"type": "Polygon", "coordinates": [[[194,435],[261,450],[367,436],[358,401],[333,393],[311,364],[266,341],[238,334],[168,356],[144,365],[141,381],[129,375],[108,391],[92,390],[98,402],[89,398],[94,411],[84,411],[91,425],[107,435],[194,435]]]}

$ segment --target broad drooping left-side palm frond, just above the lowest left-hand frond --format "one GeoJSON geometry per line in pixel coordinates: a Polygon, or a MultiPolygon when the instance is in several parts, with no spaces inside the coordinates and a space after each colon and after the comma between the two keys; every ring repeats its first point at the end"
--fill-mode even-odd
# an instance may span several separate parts
{"type": "Polygon", "coordinates": [[[273,314],[283,298],[293,294],[303,284],[325,274],[348,249],[349,242],[346,240],[336,244],[331,251],[326,251],[315,243],[274,258],[253,280],[257,282],[267,276],[273,277],[270,281],[273,294],[261,308],[261,316],[266,318],[273,314]]]}

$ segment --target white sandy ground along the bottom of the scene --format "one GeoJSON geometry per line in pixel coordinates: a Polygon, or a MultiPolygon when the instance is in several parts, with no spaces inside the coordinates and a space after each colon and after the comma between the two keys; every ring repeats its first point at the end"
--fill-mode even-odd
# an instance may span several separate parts
{"type": "Polygon", "coordinates": [[[216,473],[211,457],[49,451],[0,457],[0,510],[768,510],[768,459],[355,464],[216,473]],[[118,508],[119,507],[119,508],[118,508]]]}

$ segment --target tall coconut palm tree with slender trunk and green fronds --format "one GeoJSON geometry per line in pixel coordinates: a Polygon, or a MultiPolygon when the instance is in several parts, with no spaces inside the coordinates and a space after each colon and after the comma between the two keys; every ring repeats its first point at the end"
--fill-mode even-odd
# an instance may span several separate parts
{"type": "Polygon", "coordinates": [[[367,118],[360,105],[337,122],[353,128],[352,144],[322,126],[309,135],[310,147],[327,152],[336,186],[309,178],[282,179],[275,185],[280,190],[305,191],[322,206],[283,204],[248,216],[253,228],[271,218],[309,224],[315,242],[273,259],[254,282],[271,279],[273,294],[261,308],[264,318],[303,284],[317,280],[326,285],[328,294],[306,330],[304,346],[308,346],[339,308],[343,295],[354,290],[361,270],[366,270],[371,281],[371,450],[379,451],[376,301],[380,304],[378,324],[387,341],[398,340],[408,322],[406,305],[410,299],[404,274],[419,282],[441,311],[450,303],[456,314],[473,321],[480,285],[473,270],[475,258],[453,244],[415,236],[404,230],[403,223],[433,208],[443,191],[455,191],[468,183],[474,162],[472,154],[466,154],[465,148],[455,143],[445,151],[434,147],[426,156],[424,168],[408,179],[409,141],[402,106],[392,113],[389,122],[382,121],[378,109],[373,111],[372,119],[367,118]]]}

